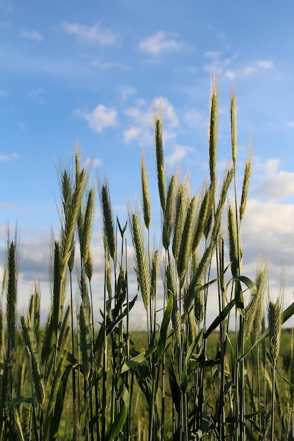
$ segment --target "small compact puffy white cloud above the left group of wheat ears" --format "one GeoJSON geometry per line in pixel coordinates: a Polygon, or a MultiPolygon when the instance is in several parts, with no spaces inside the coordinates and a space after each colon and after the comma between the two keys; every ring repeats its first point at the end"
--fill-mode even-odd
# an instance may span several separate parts
{"type": "Polygon", "coordinates": [[[117,124],[117,111],[113,107],[99,104],[92,112],[84,112],[78,109],[77,115],[87,120],[90,128],[95,132],[102,132],[104,128],[114,127],[117,124]]]}

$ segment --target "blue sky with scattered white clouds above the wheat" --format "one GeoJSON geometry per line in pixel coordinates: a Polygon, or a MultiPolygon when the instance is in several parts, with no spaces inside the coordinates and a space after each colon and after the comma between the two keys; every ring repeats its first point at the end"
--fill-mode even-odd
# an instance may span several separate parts
{"type": "MultiPolygon", "coordinates": [[[[141,149],[156,191],[152,111],[159,98],[166,167],[180,162],[193,189],[204,179],[217,73],[220,169],[231,154],[232,88],[241,177],[252,137],[245,270],[254,275],[257,256],[269,256],[275,287],[283,258],[292,301],[293,1],[0,0],[0,41],[0,242],[7,222],[17,222],[20,298],[39,278],[47,292],[51,227],[59,225],[56,164],[73,156],[75,139],[85,159],[94,157],[93,175],[106,170],[123,223],[126,197],[140,197],[141,149]]],[[[153,222],[156,228],[160,217],[153,222]]]]}

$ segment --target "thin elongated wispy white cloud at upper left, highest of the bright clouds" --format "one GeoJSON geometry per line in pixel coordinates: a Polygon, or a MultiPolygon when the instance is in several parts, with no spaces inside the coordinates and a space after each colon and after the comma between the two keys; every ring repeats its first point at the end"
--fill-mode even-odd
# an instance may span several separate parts
{"type": "Polygon", "coordinates": [[[61,25],[68,35],[75,35],[86,43],[99,43],[102,45],[114,44],[116,35],[110,29],[102,29],[99,23],[93,26],[80,25],[80,23],[65,22],[61,25]]]}

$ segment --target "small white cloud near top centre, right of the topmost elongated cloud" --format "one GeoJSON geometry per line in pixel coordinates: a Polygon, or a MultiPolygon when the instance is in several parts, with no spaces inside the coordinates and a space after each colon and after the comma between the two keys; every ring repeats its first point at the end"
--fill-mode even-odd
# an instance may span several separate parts
{"type": "Polygon", "coordinates": [[[174,32],[157,32],[150,37],[142,39],[139,50],[153,56],[164,53],[182,51],[185,48],[183,42],[178,41],[178,34],[174,32]]]}

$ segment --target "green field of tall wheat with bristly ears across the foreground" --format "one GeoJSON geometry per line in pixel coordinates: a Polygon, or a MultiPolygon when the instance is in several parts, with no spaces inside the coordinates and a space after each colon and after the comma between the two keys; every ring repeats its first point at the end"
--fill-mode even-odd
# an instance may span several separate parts
{"type": "Polygon", "coordinates": [[[294,304],[283,309],[283,276],[277,299],[271,298],[267,262],[257,263],[255,280],[243,274],[241,230],[252,158],[249,149],[238,189],[232,94],[231,163],[217,178],[218,114],[218,87],[212,82],[209,178],[195,194],[179,173],[166,175],[161,112],[154,114],[161,205],[157,249],[149,234],[144,154],[142,206],[129,204],[128,222],[121,225],[108,182],[91,185],[90,167],[76,147],[73,170],[60,170],[61,230],[51,247],[51,311],[42,326],[37,285],[27,313],[18,316],[20,244],[18,232],[8,231],[0,309],[1,440],[294,440],[293,336],[282,332],[294,304]],[[104,237],[99,328],[92,302],[96,198],[104,237]],[[217,312],[207,323],[211,290],[218,293],[217,312]],[[164,293],[161,313],[159,292],[164,293]],[[131,332],[137,297],[147,328],[131,332]]]}

